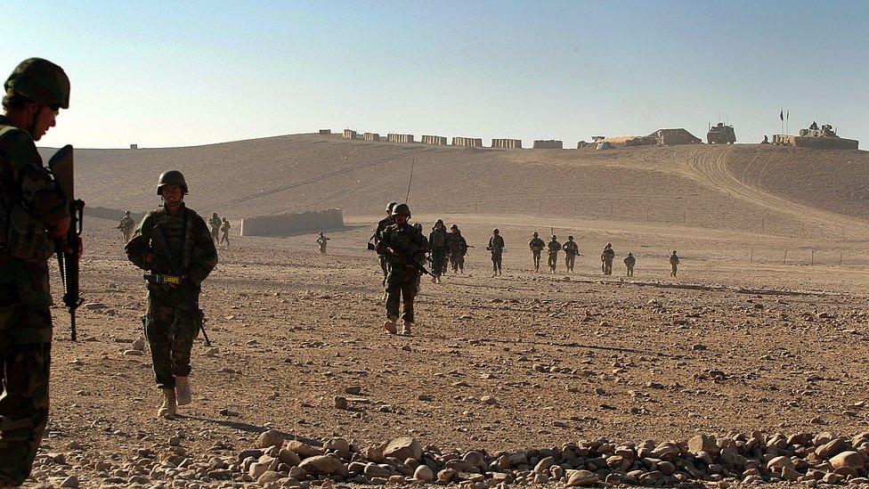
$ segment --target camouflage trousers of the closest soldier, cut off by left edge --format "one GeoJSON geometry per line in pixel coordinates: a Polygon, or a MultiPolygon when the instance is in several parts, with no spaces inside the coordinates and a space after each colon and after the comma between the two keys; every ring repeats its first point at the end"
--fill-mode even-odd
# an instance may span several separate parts
{"type": "Polygon", "coordinates": [[[48,423],[48,271],[31,270],[24,275],[30,280],[16,281],[21,272],[0,265],[0,486],[17,486],[29,477],[48,423]]]}

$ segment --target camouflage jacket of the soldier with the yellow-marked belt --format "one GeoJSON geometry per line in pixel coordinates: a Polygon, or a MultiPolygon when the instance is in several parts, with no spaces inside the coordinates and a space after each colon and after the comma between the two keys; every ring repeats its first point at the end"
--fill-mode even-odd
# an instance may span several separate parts
{"type": "Polygon", "coordinates": [[[172,256],[182,260],[186,276],[199,286],[217,265],[215,241],[211,239],[205,221],[186,206],[178,216],[169,216],[163,208],[158,208],[142,218],[133,238],[126,243],[126,257],[134,265],[153,273],[172,275],[169,257],[152,242],[155,226],[160,226],[172,256]],[[145,261],[149,253],[153,254],[150,264],[145,261]]]}

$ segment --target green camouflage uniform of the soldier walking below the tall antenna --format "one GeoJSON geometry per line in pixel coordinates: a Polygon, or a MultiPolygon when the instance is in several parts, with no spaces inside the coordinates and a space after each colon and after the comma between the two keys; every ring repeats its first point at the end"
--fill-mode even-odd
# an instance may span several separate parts
{"type": "MultiPolygon", "coordinates": [[[[380,242],[418,264],[426,263],[428,240],[411,224],[390,224],[381,233],[380,242]]],[[[386,275],[386,318],[398,319],[399,304],[404,303],[402,320],[413,322],[413,299],[419,291],[420,274],[401,258],[386,256],[389,273],[386,275]]]]}

